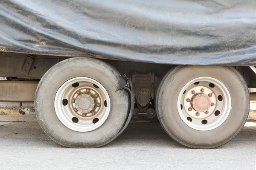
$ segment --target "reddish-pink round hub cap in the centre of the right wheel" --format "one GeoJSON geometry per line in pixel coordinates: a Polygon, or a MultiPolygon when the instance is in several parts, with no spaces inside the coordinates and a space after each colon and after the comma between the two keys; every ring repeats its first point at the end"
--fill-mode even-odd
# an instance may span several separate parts
{"type": "Polygon", "coordinates": [[[195,94],[191,98],[191,106],[195,111],[206,112],[211,107],[211,99],[204,93],[195,94]]]}

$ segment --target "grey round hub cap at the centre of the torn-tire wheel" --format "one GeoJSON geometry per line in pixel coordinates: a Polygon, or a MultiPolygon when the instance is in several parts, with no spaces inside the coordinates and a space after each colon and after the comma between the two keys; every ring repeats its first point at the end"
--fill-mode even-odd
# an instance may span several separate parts
{"type": "Polygon", "coordinates": [[[95,101],[90,94],[81,94],[77,96],[75,105],[81,113],[87,113],[93,110],[95,101]]]}

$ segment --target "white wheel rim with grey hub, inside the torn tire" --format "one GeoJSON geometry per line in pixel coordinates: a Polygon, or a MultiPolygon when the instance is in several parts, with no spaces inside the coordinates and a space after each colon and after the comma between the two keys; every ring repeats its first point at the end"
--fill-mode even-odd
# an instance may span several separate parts
{"type": "Polygon", "coordinates": [[[100,127],[110,113],[107,90],[95,79],[76,77],[64,82],[55,99],[55,113],[71,130],[88,132],[100,127]]]}

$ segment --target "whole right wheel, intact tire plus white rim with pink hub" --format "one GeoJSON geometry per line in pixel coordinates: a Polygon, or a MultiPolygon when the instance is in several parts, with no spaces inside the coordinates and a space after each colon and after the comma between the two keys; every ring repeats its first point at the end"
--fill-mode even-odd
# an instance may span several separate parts
{"type": "Polygon", "coordinates": [[[163,129],[191,148],[219,147],[244,126],[250,94],[233,67],[177,66],[162,79],[156,110],[163,129]]]}

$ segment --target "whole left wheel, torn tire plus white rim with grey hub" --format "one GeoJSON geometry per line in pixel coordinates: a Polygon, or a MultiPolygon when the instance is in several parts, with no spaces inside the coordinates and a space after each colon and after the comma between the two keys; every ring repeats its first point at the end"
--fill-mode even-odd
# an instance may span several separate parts
{"type": "Polygon", "coordinates": [[[76,57],[54,65],[35,93],[35,113],[44,132],[65,147],[101,147],[125,125],[129,94],[111,65],[76,57]]]}

